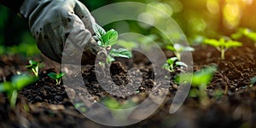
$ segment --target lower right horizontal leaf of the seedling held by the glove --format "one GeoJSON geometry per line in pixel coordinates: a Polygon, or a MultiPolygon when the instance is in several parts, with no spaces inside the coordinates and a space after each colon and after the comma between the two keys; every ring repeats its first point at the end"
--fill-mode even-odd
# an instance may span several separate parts
{"type": "Polygon", "coordinates": [[[129,49],[111,49],[109,54],[113,57],[131,58],[131,51],[129,49]]]}

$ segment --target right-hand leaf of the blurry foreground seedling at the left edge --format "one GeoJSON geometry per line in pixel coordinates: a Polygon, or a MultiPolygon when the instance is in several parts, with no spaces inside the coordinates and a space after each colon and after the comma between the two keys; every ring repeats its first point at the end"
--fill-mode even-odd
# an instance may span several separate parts
{"type": "Polygon", "coordinates": [[[22,90],[26,85],[32,84],[32,82],[34,82],[34,78],[27,74],[17,75],[12,78],[12,85],[15,90],[22,90]]]}

